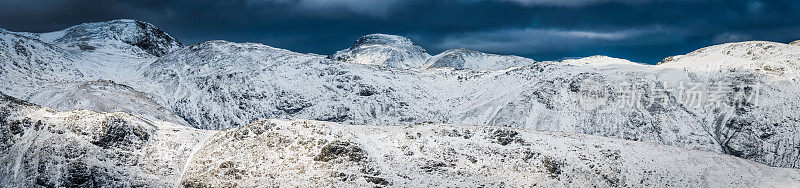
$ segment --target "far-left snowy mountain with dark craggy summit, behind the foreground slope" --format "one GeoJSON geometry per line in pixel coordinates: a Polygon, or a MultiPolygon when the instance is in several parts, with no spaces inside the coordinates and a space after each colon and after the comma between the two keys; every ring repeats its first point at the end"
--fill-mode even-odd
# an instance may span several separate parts
{"type": "Polygon", "coordinates": [[[175,38],[134,20],[87,23],[50,33],[0,29],[0,88],[62,110],[121,110],[185,124],[148,94],[120,84],[141,80],[141,67],[180,48],[175,38]]]}

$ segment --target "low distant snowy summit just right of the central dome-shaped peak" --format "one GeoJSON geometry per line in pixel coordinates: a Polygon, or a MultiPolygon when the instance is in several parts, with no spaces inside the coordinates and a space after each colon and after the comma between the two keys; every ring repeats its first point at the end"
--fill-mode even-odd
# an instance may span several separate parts
{"type": "Polygon", "coordinates": [[[447,67],[456,70],[498,71],[533,63],[535,61],[519,56],[504,56],[475,50],[453,49],[428,59],[424,69],[447,67]]]}

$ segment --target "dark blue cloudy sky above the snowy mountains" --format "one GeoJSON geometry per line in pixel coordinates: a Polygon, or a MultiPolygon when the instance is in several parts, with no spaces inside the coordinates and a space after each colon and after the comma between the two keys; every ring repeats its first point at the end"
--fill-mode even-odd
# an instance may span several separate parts
{"type": "Polygon", "coordinates": [[[767,0],[0,0],[0,28],[150,22],[184,44],[222,39],[331,54],[359,36],[411,38],[535,60],[608,55],[643,63],[735,41],[800,39],[800,1],[767,0]]]}

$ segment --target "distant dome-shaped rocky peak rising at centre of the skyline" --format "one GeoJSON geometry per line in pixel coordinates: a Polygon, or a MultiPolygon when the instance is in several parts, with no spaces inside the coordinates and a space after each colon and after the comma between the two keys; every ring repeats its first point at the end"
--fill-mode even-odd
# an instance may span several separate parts
{"type": "Polygon", "coordinates": [[[420,69],[430,55],[411,40],[397,35],[370,34],[358,38],[348,49],[336,52],[332,59],[403,69],[420,69]]]}

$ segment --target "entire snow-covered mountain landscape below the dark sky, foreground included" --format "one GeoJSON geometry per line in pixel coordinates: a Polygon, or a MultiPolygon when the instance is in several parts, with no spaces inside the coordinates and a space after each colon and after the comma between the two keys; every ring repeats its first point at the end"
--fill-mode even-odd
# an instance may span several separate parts
{"type": "Polygon", "coordinates": [[[798,42],[647,65],[371,34],[320,55],[113,20],[0,29],[0,62],[3,185],[800,183],[798,42]]]}

